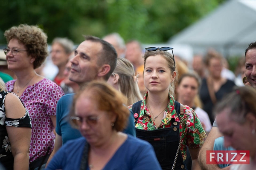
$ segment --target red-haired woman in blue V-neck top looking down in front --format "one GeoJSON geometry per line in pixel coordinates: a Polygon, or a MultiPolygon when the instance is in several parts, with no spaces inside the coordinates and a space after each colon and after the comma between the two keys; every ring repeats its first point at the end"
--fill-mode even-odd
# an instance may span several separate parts
{"type": "Polygon", "coordinates": [[[83,137],[64,144],[47,170],[160,170],[148,142],[121,132],[130,114],[125,101],[103,81],[92,81],[77,92],[70,118],[83,137]]]}

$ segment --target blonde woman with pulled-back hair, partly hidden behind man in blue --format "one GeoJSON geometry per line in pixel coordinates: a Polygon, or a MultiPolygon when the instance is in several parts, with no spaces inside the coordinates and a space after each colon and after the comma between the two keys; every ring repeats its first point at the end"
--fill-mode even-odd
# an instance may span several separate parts
{"type": "Polygon", "coordinates": [[[108,83],[128,98],[127,106],[143,99],[140,94],[137,76],[134,72],[134,66],[125,58],[117,59],[116,69],[108,79],[108,83]]]}

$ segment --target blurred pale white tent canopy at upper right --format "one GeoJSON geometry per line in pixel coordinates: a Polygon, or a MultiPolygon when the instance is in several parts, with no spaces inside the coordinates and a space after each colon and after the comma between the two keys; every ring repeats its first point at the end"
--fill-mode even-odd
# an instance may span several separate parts
{"type": "Polygon", "coordinates": [[[256,41],[256,0],[229,0],[189,26],[169,43],[192,46],[194,53],[212,47],[224,55],[244,55],[256,41]]]}

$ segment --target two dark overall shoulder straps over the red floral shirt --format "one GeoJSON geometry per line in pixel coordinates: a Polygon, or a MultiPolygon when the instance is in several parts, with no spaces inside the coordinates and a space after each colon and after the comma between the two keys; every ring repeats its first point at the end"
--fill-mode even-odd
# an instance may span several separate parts
{"type": "MultiPolygon", "coordinates": [[[[131,107],[131,110],[134,112],[134,113],[137,113],[138,114],[138,117],[135,118],[135,123],[137,122],[138,118],[139,118],[139,115],[140,115],[140,107],[141,107],[141,104],[142,104],[142,100],[141,101],[138,101],[136,103],[134,103],[131,107]]],[[[174,101],[174,107],[175,107],[175,110],[176,110],[176,113],[180,119],[180,114],[183,115],[184,114],[184,110],[183,110],[183,104],[180,104],[179,102],[177,101],[174,101]]]]}

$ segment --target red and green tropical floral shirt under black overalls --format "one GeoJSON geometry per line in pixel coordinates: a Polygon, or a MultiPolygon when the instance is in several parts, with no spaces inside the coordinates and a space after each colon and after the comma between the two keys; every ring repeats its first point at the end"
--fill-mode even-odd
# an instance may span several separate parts
{"type": "MultiPolygon", "coordinates": [[[[157,127],[154,124],[154,121],[152,121],[153,118],[151,118],[150,112],[146,105],[147,97],[148,92],[145,94],[145,97],[142,101],[140,113],[138,113],[139,117],[137,123],[135,124],[135,127],[141,130],[156,130],[157,127]]],[[[171,94],[169,94],[169,102],[164,112],[162,122],[158,129],[171,127],[172,118],[174,118],[175,121],[180,122],[180,119],[175,111],[174,101],[174,97],[171,94]]],[[[198,116],[195,114],[195,111],[186,105],[183,105],[183,107],[184,117],[182,127],[180,124],[180,137],[182,140],[180,151],[183,157],[183,161],[185,161],[186,145],[192,149],[199,148],[204,144],[207,135],[204,131],[201,122],[199,121],[198,116]]],[[[128,108],[131,109],[132,105],[128,106],[128,108]]]]}

